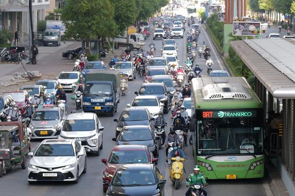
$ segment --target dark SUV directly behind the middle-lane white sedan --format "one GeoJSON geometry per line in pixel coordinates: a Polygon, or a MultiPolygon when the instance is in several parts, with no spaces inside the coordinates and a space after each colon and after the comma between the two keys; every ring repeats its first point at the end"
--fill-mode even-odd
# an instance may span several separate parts
{"type": "Polygon", "coordinates": [[[164,104],[164,113],[168,114],[170,109],[170,92],[164,82],[144,83],[136,95],[155,95],[164,104]]]}

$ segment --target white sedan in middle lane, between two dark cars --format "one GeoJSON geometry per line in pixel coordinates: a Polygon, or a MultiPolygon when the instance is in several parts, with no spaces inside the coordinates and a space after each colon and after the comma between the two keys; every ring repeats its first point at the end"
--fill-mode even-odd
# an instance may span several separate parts
{"type": "Polygon", "coordinates": [[[143,107],[147,108],[150,116],[152,118],[157,118],[159,112],[163,112],[164,104],[156,96],[136,96],[131,104],[127,104],[127,107],[137,108],[143,107]]]}

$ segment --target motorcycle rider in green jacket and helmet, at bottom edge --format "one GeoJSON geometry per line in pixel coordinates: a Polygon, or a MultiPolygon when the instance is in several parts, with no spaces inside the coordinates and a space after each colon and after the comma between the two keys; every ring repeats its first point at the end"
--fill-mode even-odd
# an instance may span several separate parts
{"type": "MultiPolygon", "coordinates": [[[[205,177],[203,176],[202,173],[200,173],[200,168],[197,165],[194,167],[194,173],[189,174],[188,179],[189,181],[186,182],[187,187],[191,185],[195,185],[195,184],[204,184],[204,186],[208,185],[205,177]]],[[[202,189],[202,191],[203,191],[203,195],[207,196],[207,192],[204,189],[202,189]]],[[[185,193],[185,196],[190,196],[190,195],[191,195],[191,188],[189,188],[185,193]]]]}

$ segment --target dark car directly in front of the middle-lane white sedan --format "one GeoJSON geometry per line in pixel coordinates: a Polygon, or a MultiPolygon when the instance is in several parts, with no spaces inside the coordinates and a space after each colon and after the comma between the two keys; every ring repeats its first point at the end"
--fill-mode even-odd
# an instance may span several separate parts
{"type": "Polygon", "coordinates": [[[154,118],[150,117],[147,108],[126,108],[122,111],[119,119],[114,119],[114,122],[117,122],[116,138],[123,126],[150,125],[153,120],[154,118]]]}

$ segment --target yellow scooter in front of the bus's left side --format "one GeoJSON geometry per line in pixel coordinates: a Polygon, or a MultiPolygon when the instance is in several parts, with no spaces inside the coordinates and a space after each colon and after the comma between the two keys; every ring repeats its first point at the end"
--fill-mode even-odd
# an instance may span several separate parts
{"type": "Polygon", "coordinates": [[[180,182],[183,180],[183,163],[186,159],[177,157],[168,158],[173,161],[170,167],[170,180],[174,183],[174,188],[177,190],[180,186],[180,182]]]}

